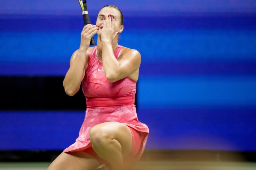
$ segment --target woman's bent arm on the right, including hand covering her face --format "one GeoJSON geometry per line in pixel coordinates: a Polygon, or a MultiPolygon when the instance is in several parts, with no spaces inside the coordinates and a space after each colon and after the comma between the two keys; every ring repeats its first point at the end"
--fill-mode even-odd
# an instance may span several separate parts
{"type": "MultiPolygon", "coordinates": [[[[111,16],[111,15],[110,15],[111,16]]],[[[128,77],[133,72],[137,75],[133,75],[138,78],[138,69],[141,64],[141,55],[135,49],[129,49],[122,52],[118,60],[115,58],[112,42],[118,40],[117,36],[120,29],[115,29],[117,25],[115,18],[104,18],[103,29],[101,33],[102,41],[102,63],[103,70],[106,78],[110,82],[115,82],[123,78],[128,77]]],[[[136,78],[135,78],[136,79],[136,78]]]]}

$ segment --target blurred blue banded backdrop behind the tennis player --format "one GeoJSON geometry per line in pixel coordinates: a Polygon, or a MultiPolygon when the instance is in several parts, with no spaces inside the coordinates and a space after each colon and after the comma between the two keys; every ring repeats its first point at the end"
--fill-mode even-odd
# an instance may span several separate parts
{"type": "MultiPolygon", "coordinates": [[[[146,149],[256,151],[255,0],[87,4],[91,23],[102,6],[118,6],[119,44],[141,53],[137,109],[150,129],[146,149]]],[[[0,75],[65,76],[82,26],[77,0],[1,2],[0,75]]],[[[0,150],[63,150],[84,116],[1,110],[0,150]]]]}

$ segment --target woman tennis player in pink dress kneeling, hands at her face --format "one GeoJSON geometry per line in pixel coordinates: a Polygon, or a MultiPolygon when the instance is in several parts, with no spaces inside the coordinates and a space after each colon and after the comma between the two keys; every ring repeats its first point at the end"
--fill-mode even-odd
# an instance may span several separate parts
{"type": "Polygon", "coordinates": [[[96,25],[82,29],[63,86],[70,96],[82,87],[85,119],[74,144],[47,170],[125,170],[141,158],[149,134],[147,125],[138,121],[134,104],[141,55],[118,44],[123,22],[120,9],[107,5],[98,13],[96,25]],[[96,33],[97,46],[89,47],[96,33]]]}

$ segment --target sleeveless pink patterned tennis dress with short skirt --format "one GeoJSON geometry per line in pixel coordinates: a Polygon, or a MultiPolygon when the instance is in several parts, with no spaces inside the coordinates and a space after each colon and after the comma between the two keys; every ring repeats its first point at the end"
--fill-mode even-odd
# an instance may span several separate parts
{"type": "MultiPolygon", "coordinates": [[[[122,46],[118,45],[115,57],[118,58],[122,46]]],[[[79,136],[64,152],[82,151],[91,147],[89,131],[94,125],[116,121],[132,129],[133,143],[139,145],[133,157],[138,160],[145,148],[149,129],[146,124],[138,121],[135,108],[136,82],[124,78],[114,83],[107,80],[102,63],[96,57],[97,46],[89,56],[88,68],[82,81],[82,91],[86,99],[85,119],[79,136]],[[134,134],[134,132],[136,134],[134,134]],[[139,135],[135,140],[134,135],[139,135]]],[[[133,144],[134,146],[134,144],[133,144]]],[[[134,147],[132,147],[132,150],[134,147]]],[[[132,152],[131,152],[132,153],[132,152]]]]}

